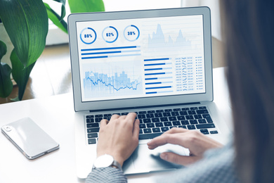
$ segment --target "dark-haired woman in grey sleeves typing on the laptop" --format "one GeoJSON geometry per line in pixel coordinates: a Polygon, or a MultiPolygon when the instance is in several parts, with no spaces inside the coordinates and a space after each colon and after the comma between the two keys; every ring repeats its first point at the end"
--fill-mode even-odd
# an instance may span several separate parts
{"type": "MultiPolygon", "coordinates": [[[[273,4],[221,1],[234,142],[220,148],[221,144],[200,132],[176,128],[152,139],[149,149],[167,143],[190,149],[190,156],[161,154],[164,160],[188,166],[167,177],[169,182],[274,182],[273,4]]],[[[101,121],[98,156],[110,154],[120,165],[129,158],[138,145],[139,122],[135,117],[129,113],[113,115],[110,122],[101,121]]],[[[86,179],[100,181],[126,182],[126,177],[113,166],[96,168],[86,179]]]]}

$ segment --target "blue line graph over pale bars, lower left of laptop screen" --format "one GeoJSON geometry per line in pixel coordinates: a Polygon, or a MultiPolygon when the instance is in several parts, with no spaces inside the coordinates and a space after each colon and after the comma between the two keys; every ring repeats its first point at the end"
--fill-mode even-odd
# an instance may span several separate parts
{"type": "Polygon", "coordinates": [[[142,80],[138,72],[135,75],[134,68],[116,66],[86,69],[82,79],[85,98],[111,98],[142,94],[142,80]]]}

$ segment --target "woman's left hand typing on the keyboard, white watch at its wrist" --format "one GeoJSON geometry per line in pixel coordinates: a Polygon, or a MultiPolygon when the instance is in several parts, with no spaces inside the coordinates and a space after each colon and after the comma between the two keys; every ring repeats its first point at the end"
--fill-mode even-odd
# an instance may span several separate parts
{"type": "Polygon", "coordinates": [[[112,115],[110,121],[101,120],[97,157],[105,153],[113,156],[122,166],[138,146],[139,120],[136,113],[112,115]]]}

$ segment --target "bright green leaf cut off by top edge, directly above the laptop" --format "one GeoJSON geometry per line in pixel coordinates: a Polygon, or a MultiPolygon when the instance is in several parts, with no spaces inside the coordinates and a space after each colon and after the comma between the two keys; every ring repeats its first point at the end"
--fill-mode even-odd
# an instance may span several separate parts
{"type": "Polygon", "coordinates": [[[103,0],[68,0],[72,13],[105,11],[103,0]]]}

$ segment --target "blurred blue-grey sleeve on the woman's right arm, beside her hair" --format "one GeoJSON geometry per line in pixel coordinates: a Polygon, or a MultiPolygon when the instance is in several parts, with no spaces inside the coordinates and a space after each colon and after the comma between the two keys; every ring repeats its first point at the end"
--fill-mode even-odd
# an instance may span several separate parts
{"type": "Polygon", "coordinates": [[[207,151],[204,158],[188,168],[172,172],[157,182],[234,183],[239,182],[235,171],[235,151],[232,145],[207,151]],[[171,180],[172,179],[172,180],[171,180]]]}

